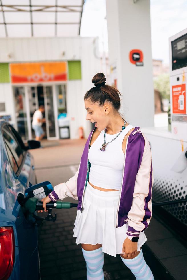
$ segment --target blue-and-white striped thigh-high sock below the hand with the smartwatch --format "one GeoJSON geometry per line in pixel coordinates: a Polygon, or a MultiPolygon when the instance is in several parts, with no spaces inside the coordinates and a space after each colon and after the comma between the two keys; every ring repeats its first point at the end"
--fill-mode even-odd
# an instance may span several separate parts
{"type": "Polygon", "coordinates": [[[130,270],[136,277],[136,280],[154,280],[152,271],[145,262],[142,249],[140,249],[140,253],[134,259],[123,259],[122,257],[121,259],[124,262],[124,264],[128,268],[130,268],[130,270]]]}

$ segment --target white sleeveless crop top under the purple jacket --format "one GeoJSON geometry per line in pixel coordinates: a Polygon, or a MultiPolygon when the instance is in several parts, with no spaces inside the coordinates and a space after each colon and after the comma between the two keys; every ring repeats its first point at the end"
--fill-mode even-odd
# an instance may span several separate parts
{"type": "MultiPolygon", "coordinates": [[[[122,143],[125,135],[130,129],[135,128],[127,125],[120,135],[112,142],[108,143],[105,151],[100,151],[104,142],[104,130],[100,132],[97,139],[89,148],[88,160],[91,163],[88,181],[96,186],[104,189],[121,189],[124,152],[122,143]]],[[[106,142],[111,141],[119,134],[107,134],[106,142]]]]}

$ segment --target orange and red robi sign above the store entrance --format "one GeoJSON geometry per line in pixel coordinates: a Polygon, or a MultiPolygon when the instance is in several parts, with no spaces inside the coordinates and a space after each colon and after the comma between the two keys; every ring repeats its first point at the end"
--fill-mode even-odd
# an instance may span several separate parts
{"type": "Polygon", "coordinates": [[[66,62],[10,63],[12,83],[67,81],[66,62]]]}

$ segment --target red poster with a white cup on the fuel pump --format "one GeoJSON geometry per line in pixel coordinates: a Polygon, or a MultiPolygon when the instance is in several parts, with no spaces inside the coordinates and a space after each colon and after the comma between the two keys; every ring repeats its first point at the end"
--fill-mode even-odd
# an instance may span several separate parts
{"type": "Polygon", "coordinates": [[[173,114],[186,114],[186,84],[172,86],[173,114]]]}

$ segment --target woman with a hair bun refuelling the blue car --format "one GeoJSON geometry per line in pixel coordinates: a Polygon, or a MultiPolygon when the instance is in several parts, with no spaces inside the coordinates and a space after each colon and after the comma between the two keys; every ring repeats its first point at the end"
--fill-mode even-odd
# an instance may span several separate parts
{"type": "Polygon", "coordinates": [[[95,122],[75,175],[54,187],[46,203],[73,197],[73,237],[81,243],[87,279],[104,279],[104,252],[120,254],[136,279],[154,279],[141,246],[152,216],[152,158],[148,139],[119,113],[120,92],[97,73],[84,96],[87,120],[95,122]]]}

